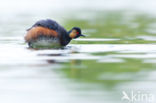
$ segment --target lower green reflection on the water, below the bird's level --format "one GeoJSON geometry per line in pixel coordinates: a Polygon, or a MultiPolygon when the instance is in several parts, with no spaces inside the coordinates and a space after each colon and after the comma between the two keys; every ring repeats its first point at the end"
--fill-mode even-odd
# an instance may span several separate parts
{"type": "Polygon", "coordinates": [[[136,75],[135,73],[142,70],[151,70],[154,69],[154,67],[154,65],[142,63],[142,60],[139,59],[124,59],[123,63],[105,63],[97,62],[95,60],[73,60],[66,63],[62,70],[69,78],[79,79],[83,82],[105,84],[108,82],[117,83],[118,81],[144,80],[144,78],[139,77],[139,74],[136,75]],[[123,74],[129,74],[129,78],[113,77],[115,75],[123,74]],[[108,77],[103,77],[105,75],[108,77]],[[136,78],[136,76],[139,78],[136,78]]]}

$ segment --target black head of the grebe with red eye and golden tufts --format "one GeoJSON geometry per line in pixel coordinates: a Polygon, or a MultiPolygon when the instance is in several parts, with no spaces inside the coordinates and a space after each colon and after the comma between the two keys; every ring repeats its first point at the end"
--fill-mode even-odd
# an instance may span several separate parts
{"type": "Polygon", "coordinates": [[[79,27],[73,27],[69,32],[69,37],[72,39],[78,38],[80,36],[85,37],[85,35],[81,34],[81,29],[79,27]]]}

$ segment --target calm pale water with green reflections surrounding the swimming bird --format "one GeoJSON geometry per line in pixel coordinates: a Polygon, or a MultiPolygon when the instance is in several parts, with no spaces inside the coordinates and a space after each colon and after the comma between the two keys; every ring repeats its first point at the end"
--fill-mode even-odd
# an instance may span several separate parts
{"type": "Polygon", "coordinates": [[[15,1],[0,4],[0,102],[128,103],[123,91],[156,96],[154,0],[15,1]],[[87,37],[64,49],[28,49],[25,30],[44,18],[67,30],[79,26],[87,37]]]}

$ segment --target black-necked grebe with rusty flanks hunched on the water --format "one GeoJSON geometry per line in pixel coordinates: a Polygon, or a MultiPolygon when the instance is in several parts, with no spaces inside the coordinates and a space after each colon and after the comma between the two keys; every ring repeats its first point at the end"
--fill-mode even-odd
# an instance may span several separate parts
{"type": "Polygon", "coordinates": [[[79,27],[67,31],[55,20],[39,20],[29,29],[24,37],[29,48],[61,48],[70,43],[72,39],[85,37],[79,27]]]}

